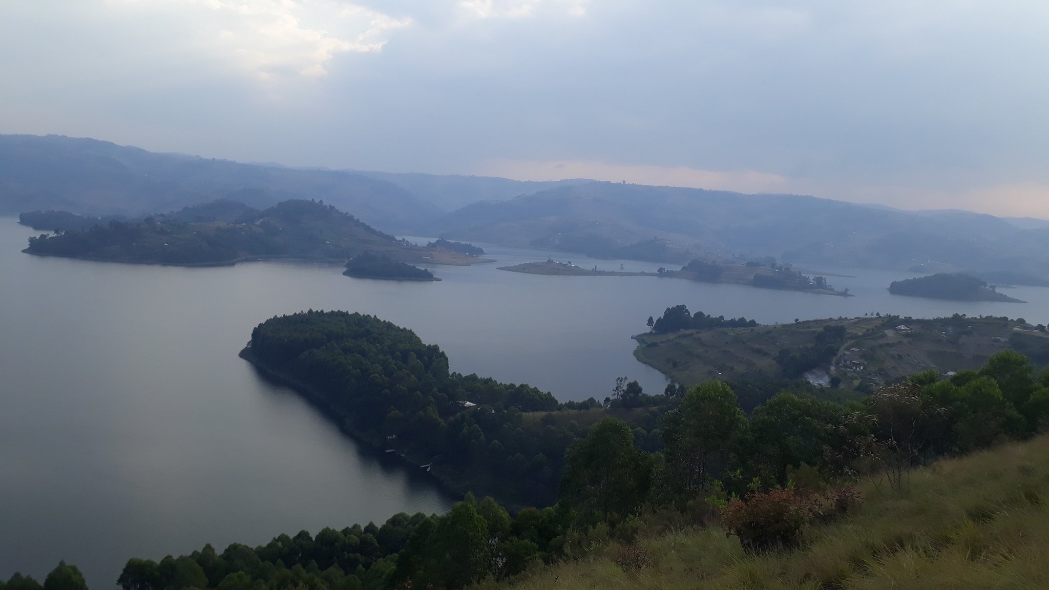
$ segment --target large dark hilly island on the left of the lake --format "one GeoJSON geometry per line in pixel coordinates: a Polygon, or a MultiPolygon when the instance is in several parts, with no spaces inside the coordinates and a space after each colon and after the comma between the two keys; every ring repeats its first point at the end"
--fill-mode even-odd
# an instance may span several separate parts
{"type": "MultiPolygon", "coordinates": [[[[61,218],[56,212],[47,215],[61,218]]],[[[30,237],[29,254],[149,265],[220,266],[245,260],[345,262],[363,253],[409,264],[487,261],[442,246],[415,246],[317,201],[284,201],[259,211],[236,202],[187,207],[141,220],[110,219],[88,229],[30,237]]]]}

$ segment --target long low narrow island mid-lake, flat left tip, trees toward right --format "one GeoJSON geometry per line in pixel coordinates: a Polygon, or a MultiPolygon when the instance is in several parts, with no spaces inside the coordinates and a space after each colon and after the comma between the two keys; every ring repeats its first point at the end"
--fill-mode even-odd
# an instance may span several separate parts
{"type": "Polygon", "coordinates": [[[513,267],[499,267],[500,271],[553,276],[655,276],[662,278],[685,278],[700,282],[732,282],[763,289],[801,291],[817,295],[853,297],[848,289],[836,291],[828,285],[827,278],[808,276],[788,267],[766,267],[753,262],[746,265],[722,265],[716,261],[694,259],[680,270],[660,268],[656,272],[602,271],[595,266],[585,269],[570,262],[558,262],[548,258],[544,262],[522,262],[513,267]]]}

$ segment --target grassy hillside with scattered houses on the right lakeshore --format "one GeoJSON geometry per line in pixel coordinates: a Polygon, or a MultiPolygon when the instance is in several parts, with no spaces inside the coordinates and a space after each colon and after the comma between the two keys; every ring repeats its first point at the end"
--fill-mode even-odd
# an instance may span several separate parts
{"type": "Polygon", "coordinates": [[[1014,349],[1049,363],[1049,335],[1005,318],[815,319],[756,328],[641,334],[634,356],[675,381],[764,379],[783,376],[776,355],[811,344],[827,326],[845,328],[844,344],[822,368],[843,389],[871,389],[894,379],[937,370],[979,368],[990,355],[1014,349]],[[908,330],[897,330],[905,325],[908,330]]]}

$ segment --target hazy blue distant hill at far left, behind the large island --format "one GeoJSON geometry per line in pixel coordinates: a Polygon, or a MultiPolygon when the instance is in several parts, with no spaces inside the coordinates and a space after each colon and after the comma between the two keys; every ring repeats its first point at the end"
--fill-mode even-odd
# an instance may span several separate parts
{"type": "Polygon", "coordinates": [[[143,215],[215,199],[261,209],[291,198],[324,199],[387,231],[415,228],[441,212],[401,187],[349,172],[152,153],[61,135],[0,135],[0,213],[143,215]]]}

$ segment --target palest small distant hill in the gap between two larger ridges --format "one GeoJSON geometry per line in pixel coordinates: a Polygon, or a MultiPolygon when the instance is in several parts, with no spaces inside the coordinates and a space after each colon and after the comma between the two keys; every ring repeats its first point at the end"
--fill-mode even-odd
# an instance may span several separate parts
{"type": "Polygon", "coordinates": [[[539,182],[462,174],[366,172],[363,170],[347,170],[347,172],[397,185],[445,211],[452,211],[479,201],[506,201],[551,188],[594,182],[586,178],[539,182]]]}

